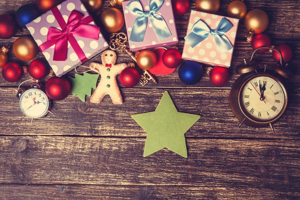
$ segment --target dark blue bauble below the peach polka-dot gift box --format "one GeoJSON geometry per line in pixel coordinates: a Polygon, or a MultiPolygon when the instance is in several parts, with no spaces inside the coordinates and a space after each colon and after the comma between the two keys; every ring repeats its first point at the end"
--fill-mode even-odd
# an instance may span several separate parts
{"type": "Polygon", "coordinates": [[[201,64],[194,61],[183,62],[178,70],[180,80],[185,84],[196,84],[202,78],[203,70],[201,64]]]}

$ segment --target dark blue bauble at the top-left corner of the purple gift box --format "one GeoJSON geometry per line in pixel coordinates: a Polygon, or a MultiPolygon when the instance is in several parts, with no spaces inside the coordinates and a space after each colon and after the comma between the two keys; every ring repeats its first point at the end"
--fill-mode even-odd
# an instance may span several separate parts
{"type": "Polygon", "coordinates": [[[39,12],[34,4],[20,6],[15,12],[16,22],[22,28],[26,28],[26,24],[39,16],[39,12]]]}

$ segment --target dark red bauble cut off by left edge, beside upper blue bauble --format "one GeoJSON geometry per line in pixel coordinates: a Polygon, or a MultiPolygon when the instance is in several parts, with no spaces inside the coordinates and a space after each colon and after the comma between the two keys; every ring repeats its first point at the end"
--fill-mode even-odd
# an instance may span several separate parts
{"type": "Polygon", "coordinates": [[[15,19],[9,14],[0,15],[0,38],[9,39],[14,36],[17,31],[15,19]]]}

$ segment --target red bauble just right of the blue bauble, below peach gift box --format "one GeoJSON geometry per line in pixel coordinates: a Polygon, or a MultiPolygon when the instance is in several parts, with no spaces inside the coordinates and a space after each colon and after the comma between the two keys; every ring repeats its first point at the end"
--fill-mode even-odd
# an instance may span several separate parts
{"type": "Polygon", "coordinates": [[[229,80],[229,71],[222,66],[215,66],[209,71],[209,79],[215,86],[222,86],[229,80]]]}

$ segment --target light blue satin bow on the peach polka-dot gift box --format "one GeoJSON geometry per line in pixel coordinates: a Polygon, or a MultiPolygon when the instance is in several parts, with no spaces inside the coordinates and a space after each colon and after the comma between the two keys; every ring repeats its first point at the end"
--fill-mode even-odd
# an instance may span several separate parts
{"type": "Polygon", "coordinates": [[[232,24],[226,18],[222,18],[215,28],[210,29],[207,24],[200,19],[192,26],[191,32],[184,37],[185,43],[189,44],[192,48],[206,39],[209,35],[214,36],[216,47],[218,51],[225,52],[233,48],[229,39],[224,35],[225,32],[232,28],[232,24]]]}

